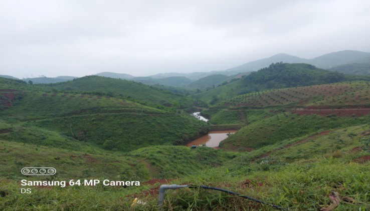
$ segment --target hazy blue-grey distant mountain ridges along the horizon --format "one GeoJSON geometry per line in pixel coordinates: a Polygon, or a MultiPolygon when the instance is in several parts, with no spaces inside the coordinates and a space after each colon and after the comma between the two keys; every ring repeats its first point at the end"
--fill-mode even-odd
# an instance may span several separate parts
{"type": "MultiPolygon", "coordinates": [[[[115,73],[115,72],[99,72],[95,75],[121,78],[142,82],[145,84],[163,84],[170,86],[184,87],[191,84],[193,81],[201,79],[203,77],[223,74],[226,76],[233,76],[243,72],[256,71],[260,68],[267,67],[271,63],[276,62],[285,63],[308,63],[315,65],[318,68],[329,69],[333,71],[339,71],[343,73],[351,74],[370,74],[370,52],[362,52],[356,50],[342,50],[337,52],[331,52],[324,55],[317,56],[312,59],[301,58],[286,53],[278,53],[273,56],[262,58],[254,61],[244,63],[242,65],[232,67],[225,70],[210,71],[210,72],[192,72],[192,73],[178,73],[178,72],[167,72],[158,73],[146,77],[135,77],[126,73],[115,73]],[[342,65],[344,65],[342,67],[342,65]],[[166,79],[163,79],[166,78],[166,79]]],[[[3,77],[12,77],[4,75],[3,77]]],[[[13,77],[14,78],[14,77],[13,77]]],[[[74,76],[58,76],[58,77],[35,77],[35,78],[23,78],[25,81],[32,80],[34,83],[53,83],[67,81],[75,78],[74,76]]],[[[228,77],[225,77],[225,80],[228,77]]],[[[222,81],[221,81],[222,82],[222,81]]],[[[190,86],[193,87],[193,86],[190,86]]]]}

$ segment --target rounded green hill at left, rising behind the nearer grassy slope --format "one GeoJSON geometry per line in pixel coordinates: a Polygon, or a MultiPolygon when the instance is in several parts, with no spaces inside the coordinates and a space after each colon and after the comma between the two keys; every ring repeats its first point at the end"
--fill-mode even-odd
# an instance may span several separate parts
{"type": "Polygon", "coordinates": [[[181,107],[188,107],[195,101],[190,97],[164,91],[139,82],[101,76],[85,76],[72,81],[48,84],[45,87],[49,88],[49,90],[124,96],[128,99],[132,98],[165,106],[178,102],[181,107]]]}

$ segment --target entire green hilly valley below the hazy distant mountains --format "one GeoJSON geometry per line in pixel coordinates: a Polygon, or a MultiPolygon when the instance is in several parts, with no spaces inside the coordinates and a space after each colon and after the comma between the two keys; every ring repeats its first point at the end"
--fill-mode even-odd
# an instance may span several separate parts
{"type": "MultiPolygon", "coordinates": [[[[192,184],[289,210],[370,208],[368,76],[278,62],[226,82],[206,77],[187,95],[96,75],[50,84],[0,77],[0,207],[157,210],[160,184],[192,184]],[[57,173],[21,173],[44,166],[57,173]],[[114,185],[36,185],[27,194],[22,179],[114,185]]],[[[162,208],[275,210],[202,188],[167,190],[162,208]]]]}

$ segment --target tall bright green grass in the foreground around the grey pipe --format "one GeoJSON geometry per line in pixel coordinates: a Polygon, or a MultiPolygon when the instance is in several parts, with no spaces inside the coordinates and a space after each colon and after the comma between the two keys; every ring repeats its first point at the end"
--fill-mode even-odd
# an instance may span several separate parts
{"type": "MultiPolygon", "coordinates": [[[[250,172],[234,174],[226,167],[207,169],[170,183],[210,185],[277,204],[289,210],[318,210],[331,203],[332,191],[351,197],[355,203],[340,203],[335,210],[370,208],[370,165],[342,158],[291,163],[274,170],[263,170],[259,163],[250,172]]],[[[140,187],[65,187],[43,188],[32,194],[19,193],[17,182],[1,180],[9,192],[0,200],[5,210],[156,210],[159,183],[140,187]],[[138,197],[145,204],[130,207],[138,197]]],[[[181,188],[166,190],[164,210],[275,210],[248,199],[215,190],[181,188]]]]}

